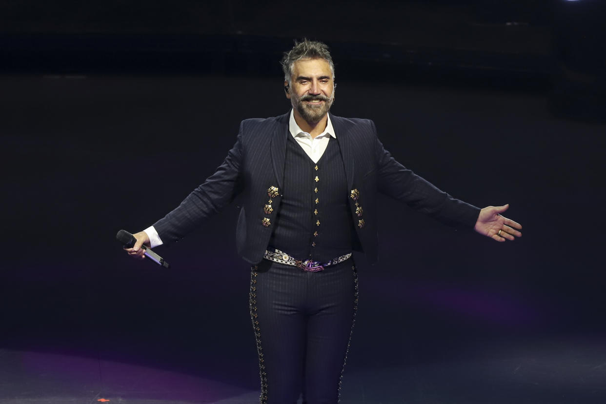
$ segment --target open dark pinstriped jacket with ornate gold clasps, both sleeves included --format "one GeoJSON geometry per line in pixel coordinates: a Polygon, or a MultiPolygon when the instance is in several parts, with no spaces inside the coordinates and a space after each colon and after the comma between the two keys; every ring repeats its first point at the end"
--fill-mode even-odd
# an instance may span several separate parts
{"type": "MultiPolygon", "coordinates": [[[[261,261],[282,197],[270,198],[268,188],[281,191],[284,185],[289,114],[242,121],[236,144],[223,164],[179,207],[154,224],[164,243],[181,239],[240,194],[242,207],[236,228],[238,254],[250,263],[261,261]],[[264,205],[269,199],[274,210],[268,214],[264,212],[264,205]],[[269,219],[269,225],[264,219],[269,219]]],[[[359,194],[361,217],[356,214],[356,201],[351,195],[347,197],[351,220],[370,262],[377,259],[378,192],[447,224],[474,226],[479,208],[454,199],[395,161],[379,141],[372,121],[339,118],[333,114],[330,119],[345,165],[347,189],[357,190],[359,194]],[[364,220],[363,225],[360,220],[364,220]]]]}

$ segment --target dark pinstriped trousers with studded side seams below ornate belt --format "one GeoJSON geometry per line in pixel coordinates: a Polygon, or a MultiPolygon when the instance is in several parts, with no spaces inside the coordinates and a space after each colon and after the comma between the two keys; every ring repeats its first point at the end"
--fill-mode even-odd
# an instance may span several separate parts
{"type": "Polygon", "coordinates": [[[353,259],[315,273],[268,260],[251,268],[261,404],[339,401],[357,305],[353,259]]]}

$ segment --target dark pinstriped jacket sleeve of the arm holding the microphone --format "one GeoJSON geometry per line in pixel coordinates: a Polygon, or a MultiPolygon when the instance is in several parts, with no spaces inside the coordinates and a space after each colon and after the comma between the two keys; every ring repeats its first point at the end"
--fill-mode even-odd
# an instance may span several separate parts
{"type": "Polygon", "coordinates": [[[242,190],[243,125],[244,122],[240,124],[236,144],[215,173],[193,190],[178,207],[153,225],[162,242],[171,243],[182,239],[199,227],[204,219],[228,205],[242,190]]]}

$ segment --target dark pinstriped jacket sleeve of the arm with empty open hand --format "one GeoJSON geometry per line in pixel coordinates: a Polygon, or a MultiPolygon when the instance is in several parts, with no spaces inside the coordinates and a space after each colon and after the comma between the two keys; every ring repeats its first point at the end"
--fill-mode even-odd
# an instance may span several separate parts
{"type": "MultiPolygon", "coordinates": [[[[374,122],[373,130],[376,135],[374,122]]],[[[444,224],[471,227],[476,224],[479,208],[455,199],[396,161],[375,136],[379,192],[404,202],[444,224]]]]}

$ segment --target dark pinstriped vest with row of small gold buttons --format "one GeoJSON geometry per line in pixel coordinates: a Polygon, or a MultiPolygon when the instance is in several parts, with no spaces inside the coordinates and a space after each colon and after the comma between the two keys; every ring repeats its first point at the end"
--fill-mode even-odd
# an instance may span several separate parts
{"type": "Polygon", "coordinates": [[[330,138],[315,164],[289,134],[283,189],[271,247],[319,262],[351,252],[347,179],[336,139],[330,138]]]}

